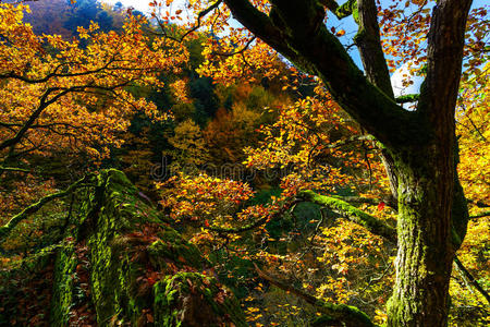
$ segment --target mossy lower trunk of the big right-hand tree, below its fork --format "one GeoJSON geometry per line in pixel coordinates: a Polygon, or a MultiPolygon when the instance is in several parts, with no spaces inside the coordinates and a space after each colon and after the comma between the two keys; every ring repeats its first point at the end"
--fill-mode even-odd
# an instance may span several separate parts
{"type": "Polygon", "coordinates": [[[397,156],[399,252],[389,326],[446,326],[454,246],[451,144],[397,156]]]}

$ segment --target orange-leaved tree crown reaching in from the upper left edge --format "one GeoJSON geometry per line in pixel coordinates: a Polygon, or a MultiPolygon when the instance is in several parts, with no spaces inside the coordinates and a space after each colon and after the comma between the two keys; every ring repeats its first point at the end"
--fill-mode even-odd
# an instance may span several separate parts
{"type": "Polygon", "coordinates": [[[0,4],[2,171],[28,155],[61,149],[101,159],[109,155],[109,144],[121,145],[119,133],[135,112],[162,117],[127,88],[161,84],[157,76],[177,71],[186,60],[185,49],[159,38],[151,43],[134,17],[121,34],[103,33],[93,23],[78,27],[81,39],[37,36],[22,22],[24,10],[28,8],[0,4]],[[87,43],[84,48],[82,40],[87,43]]]}

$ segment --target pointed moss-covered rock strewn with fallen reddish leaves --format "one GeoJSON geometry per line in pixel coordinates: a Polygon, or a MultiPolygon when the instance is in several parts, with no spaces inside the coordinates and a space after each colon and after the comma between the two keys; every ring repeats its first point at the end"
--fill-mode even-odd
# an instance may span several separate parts
{"type": "Polygon", "coordinates": [[[247,326],[197,247],[162,222],[122,172],[102,171],[85,198],[79,226],[52,252],[46,323],[247,326]]]}

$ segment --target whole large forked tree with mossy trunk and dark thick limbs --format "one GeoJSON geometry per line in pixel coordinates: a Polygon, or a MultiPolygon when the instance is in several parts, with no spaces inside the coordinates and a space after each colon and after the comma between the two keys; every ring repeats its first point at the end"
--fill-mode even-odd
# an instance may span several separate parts
{"type": "MultiPolygon", "coordinates": [[[[412,2],[421,11],[428,3],[434,4],[412,2]]],[[[424,11],[428,19],[415,25],[427,26],[428,45],[421,61],[425,82],[420,94],[412,98],[418,99],[415,110],[408,111],[397,104],[406,99],[393,95],[378,23],[381,9],[375,0],[348,0],[342,5],[334,0],[222,0],[194,4],[198,12],[196,26],[209,14],[212,32],[229,28],[231,12],[249,31],[230,27],[228,43],[209,41],[205,50],[208,57],[235,58],[221,69],[230,74],[242,73],[273,56],[272,48],[302,71],[318,76],[333,99],[376,137],[399,209],[396,281],[388,304],[390,326],[445,326],[448,322],[451,267],[468,219],[456,172],[454,117],[470,5],[471,0],[437,1],[432,14],[424,11]],[[223,3],[230,11],[221,10],[223,3]],[[359,27],[354,43],[364,72],[339,40],[344,33],[327,28],[327,12],[339,19],[354,16],[359,27]],[[220,20],[221,25],[217,25],[220,20]]],[[[396,16],[396,12],[391,13],[392,19],[396,16]]],[[[167,14],[166,19],[172,17],[167,14]]],[[[219,74],[221,80],[229,76],[222,71],[219,74]]],[[[345,322],[348,315],[343,317],[345,322]]]]}

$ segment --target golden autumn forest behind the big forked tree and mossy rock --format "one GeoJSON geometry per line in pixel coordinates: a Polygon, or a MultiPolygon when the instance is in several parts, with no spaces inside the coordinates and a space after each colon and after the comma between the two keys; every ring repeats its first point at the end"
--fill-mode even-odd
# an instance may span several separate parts
{"type": "MultiPolygon", "coordinates": [[[[151,12],[145,19],[122,3],[29,1],[27,9],[4,2],[0,56],[15,60],[0,65],[2,269],[65,241],[73,197],[49,201],[15,223],[12,217],[87,173],[114,168],[199,246],[250,325],[310,324],[319,313],[305,294],[385,322],[394,244],[359,226],[351,217],[356,215],[296,198],[315,190],[348,199],[354,205],[347,211],[362,209],[395,228],[382,149],[318,78],[255,39],[241,47],[241,27],[188,33],[194,22],[185,23],[179,9],[166,13],[164,3],[159,25],[151,12]],[[70,61],[90,73],[70,73],[70,61]],[[39,81],[53,68],[52,80],[39,81]],[[19,77],[15,69],[27,74],[19,77]],[[283,282],[274,284],[274,276],[283,282]]],[[[424,75],[425,53],[417,52],[415,36],[425,33],[426,4],[393,1],[380,17],[391,72],[404,65],[407,88],[424,75]],[[404,27],[414,24],[408,32],[415,36],[402,44],[401,29],[383,21],[397,7],[413,7],[416,16],[408,23],[399,16],[404,27]]],[[[477,4],[456,110],[458,172],[470,220],[451,279],[455,326],[489,320],[490,33],[487,9],[477,4]]],[[[332,23],[331,31],[348,46],[348,24],[332,23]]],[[[414,99],[406,102],[409,110],[414,99]]],[[[32,284],[23,284],[28,292],[32,284]]],[[[30,310],[17,302],[25,322],[49,306],[49,296],[33,300],[30,310]]]]}

